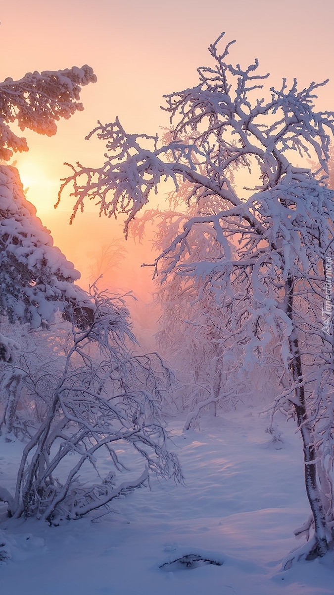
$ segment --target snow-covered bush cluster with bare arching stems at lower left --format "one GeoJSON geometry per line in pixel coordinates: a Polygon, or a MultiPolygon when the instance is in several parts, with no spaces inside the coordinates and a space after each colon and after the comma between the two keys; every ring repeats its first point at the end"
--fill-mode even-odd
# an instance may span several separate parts
{"type": "Polygon", "coordinates": [[[119,298],[93,302],[86,329],[59,322],[27,333],[15,361],[2,365],[0,427],[26,441],[14,496],[0,492],[11,516],[56,524],[140,487],[149,471],[181,478],[160,415],[169,372],[153,353],[131,355],[119,298]],[[90,479],[80,481],[87,466],[90,479]]]}

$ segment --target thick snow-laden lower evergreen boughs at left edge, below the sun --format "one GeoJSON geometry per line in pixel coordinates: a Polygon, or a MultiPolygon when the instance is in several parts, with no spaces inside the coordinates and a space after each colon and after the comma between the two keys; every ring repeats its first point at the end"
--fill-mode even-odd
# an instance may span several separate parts
{"type": "Polygon", "coordinates": [[[37,328],[57,309],[71,316],[92,309],[75,284],[80,273],[53,246],[51,233],[26,200],[18,171],[0,165],[0,312],[12,322],[37,328]]]}

